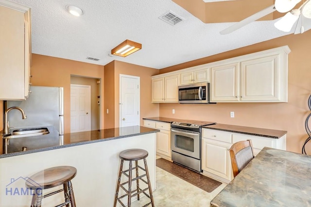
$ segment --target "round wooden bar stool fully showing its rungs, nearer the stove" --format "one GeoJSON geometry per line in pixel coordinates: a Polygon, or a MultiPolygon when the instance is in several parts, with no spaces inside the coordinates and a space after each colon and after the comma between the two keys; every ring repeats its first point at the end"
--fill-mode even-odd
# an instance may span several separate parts
{"type": "Polygon", "coordinates": [[[121,203],[122,207],[125,207],[125,205],[121,202],[121,198],[124,198],[126,196],[127,196],[127,206],[130,207],[131,206],[131,198],[137,195],[137,200],[139,200],[139,194],[140,193],[145,194],[150,199],[150,202],[147,203],[144,207],[147,207],[150,204],[152,205],[152,207],[155,206],[154,205],[154,199],[152,197],[152,189],[151,189],[151,185],[150,185],[148,166],[147,166],[147,161],[146,161],[147,156],[148,156],[148,152],[146,150],[142,150],[142,149],[124,150],[119,154],[119,157],[121,159],[121,165],[120,165],[120,171],[119,171],[119,178],[118,178],[116,196],[115,196],[115,201],[114,201],[114,207],[117,206],[117,201],[119,203],[121,203]],[[144,160],[145,168],[138,166],[138,160],[140,160],[140,159],[144,160]],[[125,171],[123,171],[124,160],[130,161],[129,169],[125,170],[125,171]],[[132,167],[132,161],[135,161],[135,167],[134,168],[132,167]],[[143,175],[138,175],[138,168],[145,171],[146,173],[143,175]],[[132,170],[134,170],[134,169],[136,169],[136,177],[132,179],[132,170]],[[127,172],[128,172],[128,174],[127,174],[127,172]],[[126,181],[124,183],[120,183],[122,174],[124,174],[126,177],[128,177],[128,181],[126,181]],[[144,177],[144,176],[147,177],[147,181],[142,179],[142,177],[144,177]],[[148,187],[143,189],[143,190],[140,189],[139,188],[139,180],[148,184],[148,187]],[[136,190],[132,190],[132,181],[136,181],[136,186],[137,186],[136,190]],[[123,187],[123,185],[125,185],[125,184],[128,184],[128,189],[125,189],[123,187]],[[121,187],[121,189],[123,189],[126,192],[126,194],[118,197],[120,187],[121,187]],[[149,189],[149,195],[145,192],[148,189],[149,189]]]}

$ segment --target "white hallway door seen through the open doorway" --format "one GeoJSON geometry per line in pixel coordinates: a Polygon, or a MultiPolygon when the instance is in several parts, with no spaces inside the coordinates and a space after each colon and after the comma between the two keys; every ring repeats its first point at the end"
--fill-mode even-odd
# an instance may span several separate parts
{"type": "Polygon", "coordinates": [[[70,132],[91,129],[91,86],[70,85],[70,132]]]}

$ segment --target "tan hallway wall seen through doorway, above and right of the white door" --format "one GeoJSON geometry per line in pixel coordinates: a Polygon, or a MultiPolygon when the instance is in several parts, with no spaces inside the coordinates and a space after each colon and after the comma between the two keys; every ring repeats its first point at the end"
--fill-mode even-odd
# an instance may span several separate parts
{"type": "Polygon", "coordinates": [[[100,127],[100,104],[97,104],[97,101],[100,99],[97,96],[100,95],[100,84],[97,84],[97,81],[100,79],[97,78],[85,78],[79,76],[71,76],[70,83],[77,84],[77,85],[85,85],[91,86],[91,130],[98,130],[101,129],[100,127]]]}

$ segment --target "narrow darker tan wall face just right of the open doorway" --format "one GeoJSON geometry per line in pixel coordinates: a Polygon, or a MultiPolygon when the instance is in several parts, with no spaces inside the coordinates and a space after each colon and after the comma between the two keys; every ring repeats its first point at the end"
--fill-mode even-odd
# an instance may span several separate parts
{"type": "Polygon", "coordinates": [[[115,61],[104,67],[104,123],[105,129],[115,127],[115,61]],[[107,109],[109,113],[107,114],[107,109]]]}

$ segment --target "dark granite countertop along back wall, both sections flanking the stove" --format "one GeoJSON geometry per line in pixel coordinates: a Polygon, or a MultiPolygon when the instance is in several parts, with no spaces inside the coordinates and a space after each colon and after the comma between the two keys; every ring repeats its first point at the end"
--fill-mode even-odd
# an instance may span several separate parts
{"type": "MultiPolygon", "coordinates": [[[[172,123],[173,121],[183,122],[189,120],[182,120],[182,119],[175,119],[175,118],[166,118],[166,117],[150,117],[150,118],[143,118],[144,120],[151,120],[151,121],[162,121],[172,123]]],[[[236,132],[246,135],[254,135],[259,137],[266,137],[266,138],[281,138],[282,136],[287,134],[287,131],[282,130],[275,130],[275,129],[264,129],[264,128],[256,128],[256,127],[248,127],[248,126],[237,126],[237,125],[229,125],[229,124],[222,124],[216,123],[213,125],[203,126],[203,128],[207,129],[215,129],[227,132],[236,132]]]]}

